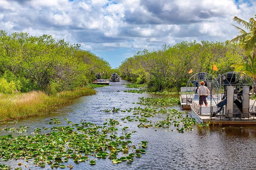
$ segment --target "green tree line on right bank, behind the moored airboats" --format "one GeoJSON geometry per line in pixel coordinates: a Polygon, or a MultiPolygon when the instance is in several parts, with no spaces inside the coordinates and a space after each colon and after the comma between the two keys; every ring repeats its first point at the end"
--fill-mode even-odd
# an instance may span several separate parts
{"type": "Polygon", "coordinates": [[[125,80],[146,83],[153,91],[179,91],[193,73],[208,72],[218,77],[234,71],[232,65],[243,62],[245,58],[237,43],[183,41],[174,46],[164,44],[157,50],[138,51],[123,61],[119,69],[125,80]],[[212,70],[213,64],[218,71],[212,70]],[[193,73],[188,74],[191,69],[193,73]]]}

